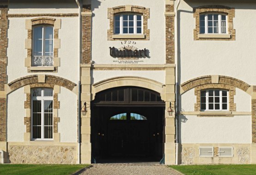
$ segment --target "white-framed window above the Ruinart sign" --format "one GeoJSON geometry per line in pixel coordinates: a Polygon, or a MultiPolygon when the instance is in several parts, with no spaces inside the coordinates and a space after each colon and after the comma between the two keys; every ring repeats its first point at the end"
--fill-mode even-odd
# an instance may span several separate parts
{"type": "Polygon", "coordinates": [[[114,16],[114,34],[142,34],[143,16],[118,14],[114,16]]]}

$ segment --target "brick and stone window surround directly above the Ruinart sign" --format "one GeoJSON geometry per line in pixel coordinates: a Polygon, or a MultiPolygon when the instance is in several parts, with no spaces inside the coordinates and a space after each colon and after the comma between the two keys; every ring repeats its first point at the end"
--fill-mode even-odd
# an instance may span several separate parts
{"type": "Polygon", "coordinates": [[[150,9],[143,6],[116,6],[107,8],[107,19],[109,19],[109,28],[107,29],[107,40],[150,40],[150,30],[148,29],[148,19],[150,18],[150,9]],[[114,15],[118,13],[134,12],[143,16],[143,34],[114,34],[114,15]]]}

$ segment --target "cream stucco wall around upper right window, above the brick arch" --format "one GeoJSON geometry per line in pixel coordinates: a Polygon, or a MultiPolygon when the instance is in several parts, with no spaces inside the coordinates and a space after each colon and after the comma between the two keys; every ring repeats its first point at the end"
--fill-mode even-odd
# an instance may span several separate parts
{"type": "Polygon", "coordinates": [[[256,19],[255,3],[223,3],[206,2],[204,0],[181,0],[179,6],[179,38],[180,41],[180,82],[183,83],[195,77],[218,74],[241,79],[250,85],[256,85],[256,50],[251,46],[256,45],[255,32],[245,32],[245,29],[255,28],[251,19],[256,19]],[[195,18],[193,7],[203,5],[224,5],[235,8],[233,18],[236,29],[235,41],[195,41],[193,29],[195,18]],[[188,63],[189,62],[189,63],[188,63]]]}

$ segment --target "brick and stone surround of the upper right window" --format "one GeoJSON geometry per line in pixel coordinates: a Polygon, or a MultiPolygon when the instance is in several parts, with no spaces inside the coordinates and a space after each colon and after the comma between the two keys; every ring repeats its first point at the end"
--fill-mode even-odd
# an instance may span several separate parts
{"type": "Polygon", "coordinates": [[[236,40],[236,30],[233,28],[233,18],[235,17],[234,8],[219,5],[208,5],[193,8],[193,12],[194,18],[196,18],[194,40],[236,40]],[[227,15],[228,34],[200,34],[200,14],[211,12],[227,15]]]}

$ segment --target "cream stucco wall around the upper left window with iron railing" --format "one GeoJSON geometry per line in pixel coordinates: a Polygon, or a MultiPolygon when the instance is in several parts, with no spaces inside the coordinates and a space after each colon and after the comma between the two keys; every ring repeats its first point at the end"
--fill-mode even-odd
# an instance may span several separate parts
{"type": "MultiPolygon", "coordinates": [[[[54,12],[54,11],[52,11],[54,12]]],[[[57,18],[57,17],[54,17],[57,18]]],[[[25,20],[27,17],[9,18],[8,29],[8,83],[28,74],[45,73],[27,73],[27,67],[24,66],[24,60],[27,57],[25,49],[25,39],[27,39],[27,30],[25,29],[25,20]]],[[[61,17],[61,29],[59,29],[60,39],[60,67],[58,73],[46,73],[60,76],[71,80],[74,83],[78,81],[78,17],[61,17]]]]}

